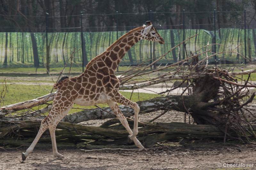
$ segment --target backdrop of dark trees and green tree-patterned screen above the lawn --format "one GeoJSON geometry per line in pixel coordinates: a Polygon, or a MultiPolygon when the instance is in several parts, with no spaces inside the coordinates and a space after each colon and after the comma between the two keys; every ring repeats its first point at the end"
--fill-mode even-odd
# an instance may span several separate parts
{"type": "MultiPolygon", "coordinates": [[[[190,51],[214,42],[214,9],[216,43],[221,44],[216,52],[238,46],[235,51],[245,55],[246,43],[247,57],[255,60],[256,0],[0,0],[0,67],[44,67],[46,26],[51,67],[65,65],[77,50],[73,66],[80,66],[82,40],[86,64],[147,20],[152,21],[166,43],[140,41],[124,56],[121,65],[157,57],[184,38],[199,34],[187,42],[184,52],[173,50],[158,64],[176,62],[190,51]]],[[[244,61],[232,53],[221,54],[218,59],[244,61]]]]}

